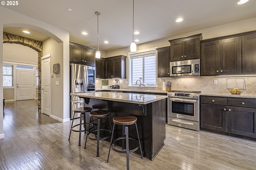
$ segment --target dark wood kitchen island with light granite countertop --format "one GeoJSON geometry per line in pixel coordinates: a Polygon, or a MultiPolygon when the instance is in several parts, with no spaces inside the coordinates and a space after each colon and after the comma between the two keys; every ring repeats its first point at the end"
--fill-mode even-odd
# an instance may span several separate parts
{"type": "MultiPolygon", "coordinates": [[[[109,109],[112,123],[112,118],[117,115],[136,116],[142,153],[145,158],[153,160],[164,146],[167,96],[118,92],[88,92],[71,95],[84,98],[86,107],[92,107],[93,110],[109,109]]],[[[106,128],[110,127],[108,121],[103,124],[106,128]]],[[[118,128],[120,129],[116,130],[114,138],[122,135],[122,127],[118,128]]],[[[129,128],[129,135],[137,138],[136,128],[133,126],[129,128]]],[[[140,154],[140,150],[135,153],[140,154]]]]}

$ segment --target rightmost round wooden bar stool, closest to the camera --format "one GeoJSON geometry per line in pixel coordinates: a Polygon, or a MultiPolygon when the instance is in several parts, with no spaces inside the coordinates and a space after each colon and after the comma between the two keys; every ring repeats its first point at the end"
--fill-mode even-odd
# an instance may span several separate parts
{"type": "MultiPolygon", "coordinates": [[[[129,170],[129,153],[130,152],[135,152],[140,147],[141,158],[143,159],[142,149],[141,149],[141,145],[140,145],[140,137],[139,137],[138,127],[137,127],[137,123],[136,123],[137,122],[137,117],[132,116],[132,115],[116,116],[116,117],[113,118],[113,122],[114,122],[114,125],[113,125],[111,140],[110,140],[108,158],[109,158],[111,148],[116,152],[126,153],[126,168],[127,168],[127,170],[129,170]],[[138,140],[134,139],[132,137],[129,137],[128,126],[133,125],[133,124],[135,124],[135,126],[136,126],[138,140]],[[123,126],[123,128],[125,129],[125,134],[124,134],[125,136],[118,137],[113,141],[113,134],[114,134],[115,125],[122,125],[123,126]],[[116,141],[119,141],[119,140],[122,140],[122,139],[125,139],[125,141],[126,141],[126,148],[124,148],[124,146],[122,146],[123,147],[122,150],[118,150],[118,149],[116,149],[112,146],[112,144],[116,145],[116,143],[115,143],[116,141]],[[138,144],[136,148],[130,150],[130,148],[129,148],[129,139],[132,140],[132,141],[135,141],[138,144]],[[123,149],[126,149],[126,150],[123,150],[123,149]]],[[[108,160],[107,160],[107,162],[108,162],[108,160]]]]}

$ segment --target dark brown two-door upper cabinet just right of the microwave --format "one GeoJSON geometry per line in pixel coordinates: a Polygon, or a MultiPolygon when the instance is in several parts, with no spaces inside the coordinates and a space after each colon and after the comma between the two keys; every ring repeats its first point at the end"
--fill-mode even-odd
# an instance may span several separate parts
{"type": "Polygon", "coordinates": [[[201,76],[242,73],[242,38],[201,43],[201,76]]]}

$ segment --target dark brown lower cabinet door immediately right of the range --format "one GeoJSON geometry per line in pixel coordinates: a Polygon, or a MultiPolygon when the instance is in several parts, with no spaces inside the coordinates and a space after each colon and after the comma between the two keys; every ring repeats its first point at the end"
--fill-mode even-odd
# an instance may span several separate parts
{"type": "Polygon", "coordinates": [[[200,127],[216,131],[227,131],[226,106],[201,104],[200,127]]]}

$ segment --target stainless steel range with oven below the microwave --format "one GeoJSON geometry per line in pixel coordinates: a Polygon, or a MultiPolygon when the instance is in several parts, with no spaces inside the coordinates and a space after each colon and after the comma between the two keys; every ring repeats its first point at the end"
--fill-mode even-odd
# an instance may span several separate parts
{"type": "Polygon", "coordinates": [[[168,124],[199,131],[198,91],[168,91],[168,124]]]}

